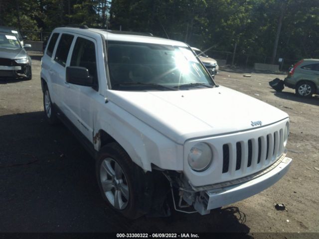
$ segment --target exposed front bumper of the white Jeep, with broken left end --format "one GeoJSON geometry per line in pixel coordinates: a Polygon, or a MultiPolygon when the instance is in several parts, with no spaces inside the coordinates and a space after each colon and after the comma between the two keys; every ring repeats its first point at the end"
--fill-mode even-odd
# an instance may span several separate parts
{"type": "Polygon", "coordinates": [[[205,215],[212,209],[246,199],[272,186],[288,172],[291,162],[292,159],[283,154],[274,164],[253,175],[219,184],[192,187],[193,191],[181,189],[179,195],[198,213],[205,215]]]}

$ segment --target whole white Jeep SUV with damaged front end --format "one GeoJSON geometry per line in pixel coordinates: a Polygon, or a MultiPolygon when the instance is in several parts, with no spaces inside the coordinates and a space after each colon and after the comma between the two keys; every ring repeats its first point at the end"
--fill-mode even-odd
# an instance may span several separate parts
{"type": "Polygon", "coordinates": [[[41,61],[45,117],[96,160],[104,200],[128,218],[208,214],[288,171],[289,117],[218,86],[190,47],[134,32],[54,29],[41,61]]]}

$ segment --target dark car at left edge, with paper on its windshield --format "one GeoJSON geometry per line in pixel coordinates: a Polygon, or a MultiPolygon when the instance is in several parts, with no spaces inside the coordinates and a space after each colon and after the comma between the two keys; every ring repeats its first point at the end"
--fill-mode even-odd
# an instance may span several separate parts
{"type": "Polygon", "coordinates": [[[0,77],[32,79],[31,58],[15,34],[0,32],[0,77]]]}

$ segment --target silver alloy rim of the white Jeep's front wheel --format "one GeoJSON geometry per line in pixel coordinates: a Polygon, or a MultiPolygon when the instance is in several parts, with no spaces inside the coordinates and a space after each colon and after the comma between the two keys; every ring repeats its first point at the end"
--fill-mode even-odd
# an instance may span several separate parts
{"type": "Polygon", "coordinates": [[[121,166],[112,158],[102,161],[100,181],[110,204],[118,210],[127,207],[130,199],[129,186],[121,166]]]}

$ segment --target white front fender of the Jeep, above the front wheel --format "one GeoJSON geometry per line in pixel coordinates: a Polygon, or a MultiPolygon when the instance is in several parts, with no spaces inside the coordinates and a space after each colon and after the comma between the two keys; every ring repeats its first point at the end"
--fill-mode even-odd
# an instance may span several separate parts
{"type": "MultiPolygon", "coordinates": [[[[162,169],[183,169],[182,145],[112,102],[103,108],[97,113],[94,134],[101,129],[107,132],[126,150],[133,162],[146,171],[152,171],[152,163],[162,169]]],[[[100,149],[99,140],[94,140],[96,150],[100,149]]]]}

